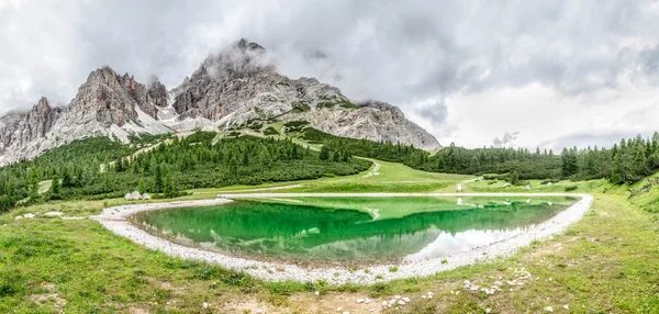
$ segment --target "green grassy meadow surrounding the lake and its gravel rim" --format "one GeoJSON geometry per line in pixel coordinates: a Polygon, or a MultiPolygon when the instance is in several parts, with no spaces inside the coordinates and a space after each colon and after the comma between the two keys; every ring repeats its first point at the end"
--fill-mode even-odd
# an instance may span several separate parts
{"type": "MultiPolygon", "coordinates": [[[[380,161],[378,161],[380,162],[380,161]]],[[[325,178],[304,182],[289,191],[451,191],[463,176],[425,173],[404,166],[380,162],[380,176],[325,178]],[[399,187],[396,187],[399,186],[399,187]]],[[[288,183],[289,186],[299,182],[288,183]]],[[[467,184],[469,191],[563,191],[571,182],[530,190],[498,187],[484,181],[467,184]]],[[[282,187],[284,183],[268,184],[282,187]]],[[[260,187],[263,188],[263,187],[260,187]]],[[[266,187],[267,188],[267,187],[266,187]]],[[[249,187],[248,189],[254,189],[249,187]]],[[[232,189],[197,190],[188,198],[210,198],[232,189]]],[[[579,184],[576,192],[591,191],[595,201],[587,216],[566,234],[535,243],[512,258],[463,267],[426,279],[409,279],[373,287],[335,287],[322,283],[265,283],[217,267],[182,261],[153,253],[105,231],[91,221],[40,217],[14,221],[24,212],[58,210],[86,216],[123,200],[59,202],[0,215],[0,312],[202,312],[202,303],[220,313],[256,309],[284,313],[334,313],[342,306],[364,313],[357,298],[382,299],[403,294],[411,305],[391,312],[541,312],[545,306],[574,312],[640,312],[659,309],[659,224],[639,210],[659,199],[659,189],[627,200],[627,188],[604,181],[579,184]],[[606,192],[606,193],[604,193],[606,192]],[[5,224],[5,225],[4,225],[5,224]],[[3,225],[3,226],[2,226],[3,225]],[[487,296],[465,291],[463,280],[492,284],[499,277],[513,279],[514,269],[526,267],[534,280],[487,296]],[[538,278],[538,280],[535,280],[538,278]],[[551,280],[549,281],[549,278],[551,280]],[[322,291],[315,296],[313,291],[322,291]],[[460,294],[450,291],[460,290],[460,294]],[[421,301],[427,291],[432,301],[421,301]],[[342,298],[342,299],[338,299],[342,298]]],[[[450,262],[450,261],[448,261],[450,262]]]]}

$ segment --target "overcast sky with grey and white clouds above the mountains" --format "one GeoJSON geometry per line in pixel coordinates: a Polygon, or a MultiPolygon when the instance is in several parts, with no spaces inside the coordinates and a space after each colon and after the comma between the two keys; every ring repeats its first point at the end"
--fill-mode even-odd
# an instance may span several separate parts
{"type": "Polygon", "coordinates": [[[174,88],[241,37],[444,145],[610,147],[659,130],[659,3],[630,0],[0,0],[0,114],[66,104],[103,65],[174,88]]]}

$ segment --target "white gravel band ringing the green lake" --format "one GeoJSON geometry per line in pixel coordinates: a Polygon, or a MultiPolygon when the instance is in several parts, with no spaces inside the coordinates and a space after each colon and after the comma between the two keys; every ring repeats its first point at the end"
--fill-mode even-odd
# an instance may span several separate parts
{"type": "Polygon", "coordinates": [[[163,251],[169,256],[189,260],[200,260],[215,263],[235,271],[243,271],[255,278],[266,281],[298,281],[315,282],[324,280],[333,284],[357,283],[372,284],[410,277],[427,277],[440,271],[473,265],[496,257],[514,254],[518,248],[529,245],[533,240],[547,238],[562,233],[569,225],[578,222],[588,211],[593,198],[589,194],[571,193],[258,193],[258,194],[226,194],[214,200],[181,201],[170,203],[152,203],[124,205],[103,210],[103,213],[91,217],[100,222],[108,229],[126,237],[149,249],[163,251]],[[220,253],[203,250],[175,244],[165,238],[154,236],[129,222],[133,214],[145,211],[157,211],[172,208],[220,205],[232,202],[231,199],[254,198],[332,198],[332,197],[577,197],[577,203],[560,212],[552,218],[540,223],[525,233],[477,247],[467,251],[458,251],[440,258],[403,261],[400,265],[378,265],[359,270],[349,270],[340,267],[300,267],[284,262],[256,261],[252,259],[226,256],[220,253]],[[443,263],[444,261],[444,263],[443,263]],[[390,267],[398,267],[395,272],[390,267]]]}

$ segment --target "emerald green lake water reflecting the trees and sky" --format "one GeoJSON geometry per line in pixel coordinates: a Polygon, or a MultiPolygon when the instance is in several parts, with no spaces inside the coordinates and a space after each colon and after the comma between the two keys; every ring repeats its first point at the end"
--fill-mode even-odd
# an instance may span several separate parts
{"type": "Polygon", "coordinates": [[[144,212],[134,223],[186,244],[298,260],[440,257],[547,221],[577,199],[297,198],[144,212]]]}

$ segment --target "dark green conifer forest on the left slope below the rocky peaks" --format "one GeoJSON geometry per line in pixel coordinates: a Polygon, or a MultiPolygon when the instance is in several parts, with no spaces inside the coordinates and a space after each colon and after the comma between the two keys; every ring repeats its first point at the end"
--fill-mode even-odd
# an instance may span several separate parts
{"type": "Polygon", "coordinates": [[[136,148],[104,137],[76,141],[0,168],[0,211],[19,201],[120,198],[135,190],[171,198],[194,188],[346,176],[371,166],[346,150],[325,158],[290,139],[215,138],[214,132],[174,136],[134,156],[136,148]],[[53,181],[46,192],[40,191],[44,180],[53,181]]]}

